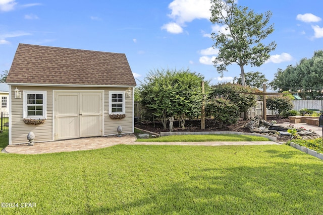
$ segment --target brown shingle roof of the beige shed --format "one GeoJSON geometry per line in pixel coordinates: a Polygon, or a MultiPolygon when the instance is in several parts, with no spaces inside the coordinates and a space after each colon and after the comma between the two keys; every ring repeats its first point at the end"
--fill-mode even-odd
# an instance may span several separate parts
{"type": "Polygon", "coordinates": [[[7,83],[135,86],[121,53],[19,44],[7,83]]]}

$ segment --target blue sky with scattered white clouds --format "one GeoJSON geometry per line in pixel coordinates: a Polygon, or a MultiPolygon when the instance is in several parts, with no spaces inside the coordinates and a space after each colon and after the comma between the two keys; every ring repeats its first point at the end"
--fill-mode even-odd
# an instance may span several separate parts
{"type": "MultiPolygon", "coordinates": [[[[296,65],[323,49],[322,0],[238,0],[255,13],[271,11],[275,31],[263,40],[277,43],[259,71],[272,81],[277,69],[296,65]]],[[[140,85],[154,69],[190,69],[211,84],[240,76],[233,63],[223,77],[213,66],[218,49],[209,21],[209,0],[82,1],[0,0],[0,72],[9,70],[19,43],[125,53],[140,85]]]]}

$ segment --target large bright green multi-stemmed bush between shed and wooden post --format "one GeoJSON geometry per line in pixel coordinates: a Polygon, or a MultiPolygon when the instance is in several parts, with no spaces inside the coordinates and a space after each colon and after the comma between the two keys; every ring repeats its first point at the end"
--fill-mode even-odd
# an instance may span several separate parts
{"type": "MultiPolygon", "coordinates": [[[[166,129],[168,117],[175,116],[180,127],[185,119],[200,112],[202,104],[201,82],[204,77],[186,70],[155,69],[141,83],[140,102],[152,111],[166,129]]],[[[207,85],[207,84],[206,84],[207,85]]]]}

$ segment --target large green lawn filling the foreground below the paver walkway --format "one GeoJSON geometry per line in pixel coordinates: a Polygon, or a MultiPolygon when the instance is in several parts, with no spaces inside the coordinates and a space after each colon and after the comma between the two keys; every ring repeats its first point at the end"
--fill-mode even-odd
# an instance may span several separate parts
{"type": "Polygon", "coordinates": [[[0,201],[36,204],[0,214],[323,213],[323,162],[286,145],[118,145],[0,161],[0,201]]]}

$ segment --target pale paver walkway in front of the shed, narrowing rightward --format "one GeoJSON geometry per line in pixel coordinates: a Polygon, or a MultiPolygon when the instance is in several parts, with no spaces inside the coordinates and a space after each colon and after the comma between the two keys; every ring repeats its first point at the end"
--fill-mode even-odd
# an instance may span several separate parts
{"type": "Polygon", "coordinates": [[[14,154],[44,154],[58,152],[72,152],[93,150],[115,145],[183,145],[183,146],[226,146],[226,145],[280,145],[274,141],[241,141],[241,142],[136,142],[136,136],[125,134],[122,137],[87,137],[52,142],[39,142],[34,146],[27,144],[10,145],[4,149],[5,153],[14,154]]]}

